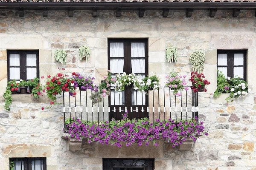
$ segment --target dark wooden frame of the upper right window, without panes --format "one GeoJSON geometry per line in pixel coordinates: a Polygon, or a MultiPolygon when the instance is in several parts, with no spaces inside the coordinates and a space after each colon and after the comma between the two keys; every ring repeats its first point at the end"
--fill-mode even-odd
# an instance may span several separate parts
{"type": "MultiPolygon", "coordinates": [[[[234,77],[234,67],[244,67],[243,80],[246,81],[247,78],[247,50],[217,50],[217,70],[218,67],[227,67],[227,77],[234,77]],[[243,65],[234,66],[234,54],[242,53],[244,54],[243,65]],[[218,65],[218,54],[227,54],[227,65],[218,65]]],[[[217,72],[218,74],[218,72],[217,72]]]]}

